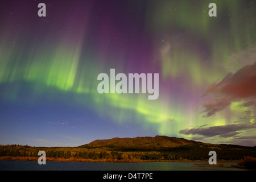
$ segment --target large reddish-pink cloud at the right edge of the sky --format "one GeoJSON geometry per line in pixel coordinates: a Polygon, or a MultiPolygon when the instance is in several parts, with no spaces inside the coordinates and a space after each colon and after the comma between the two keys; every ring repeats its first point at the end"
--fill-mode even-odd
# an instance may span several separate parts
{"type": "Polygon", "coordinates": [[[245,100],[244,106],[256,106],[256,62],[209,85],[204,93],[204,96],[207,95],[213,96],[213,99],[203,104],[206,117],[225,109],[234,101],[245,100]]]}

